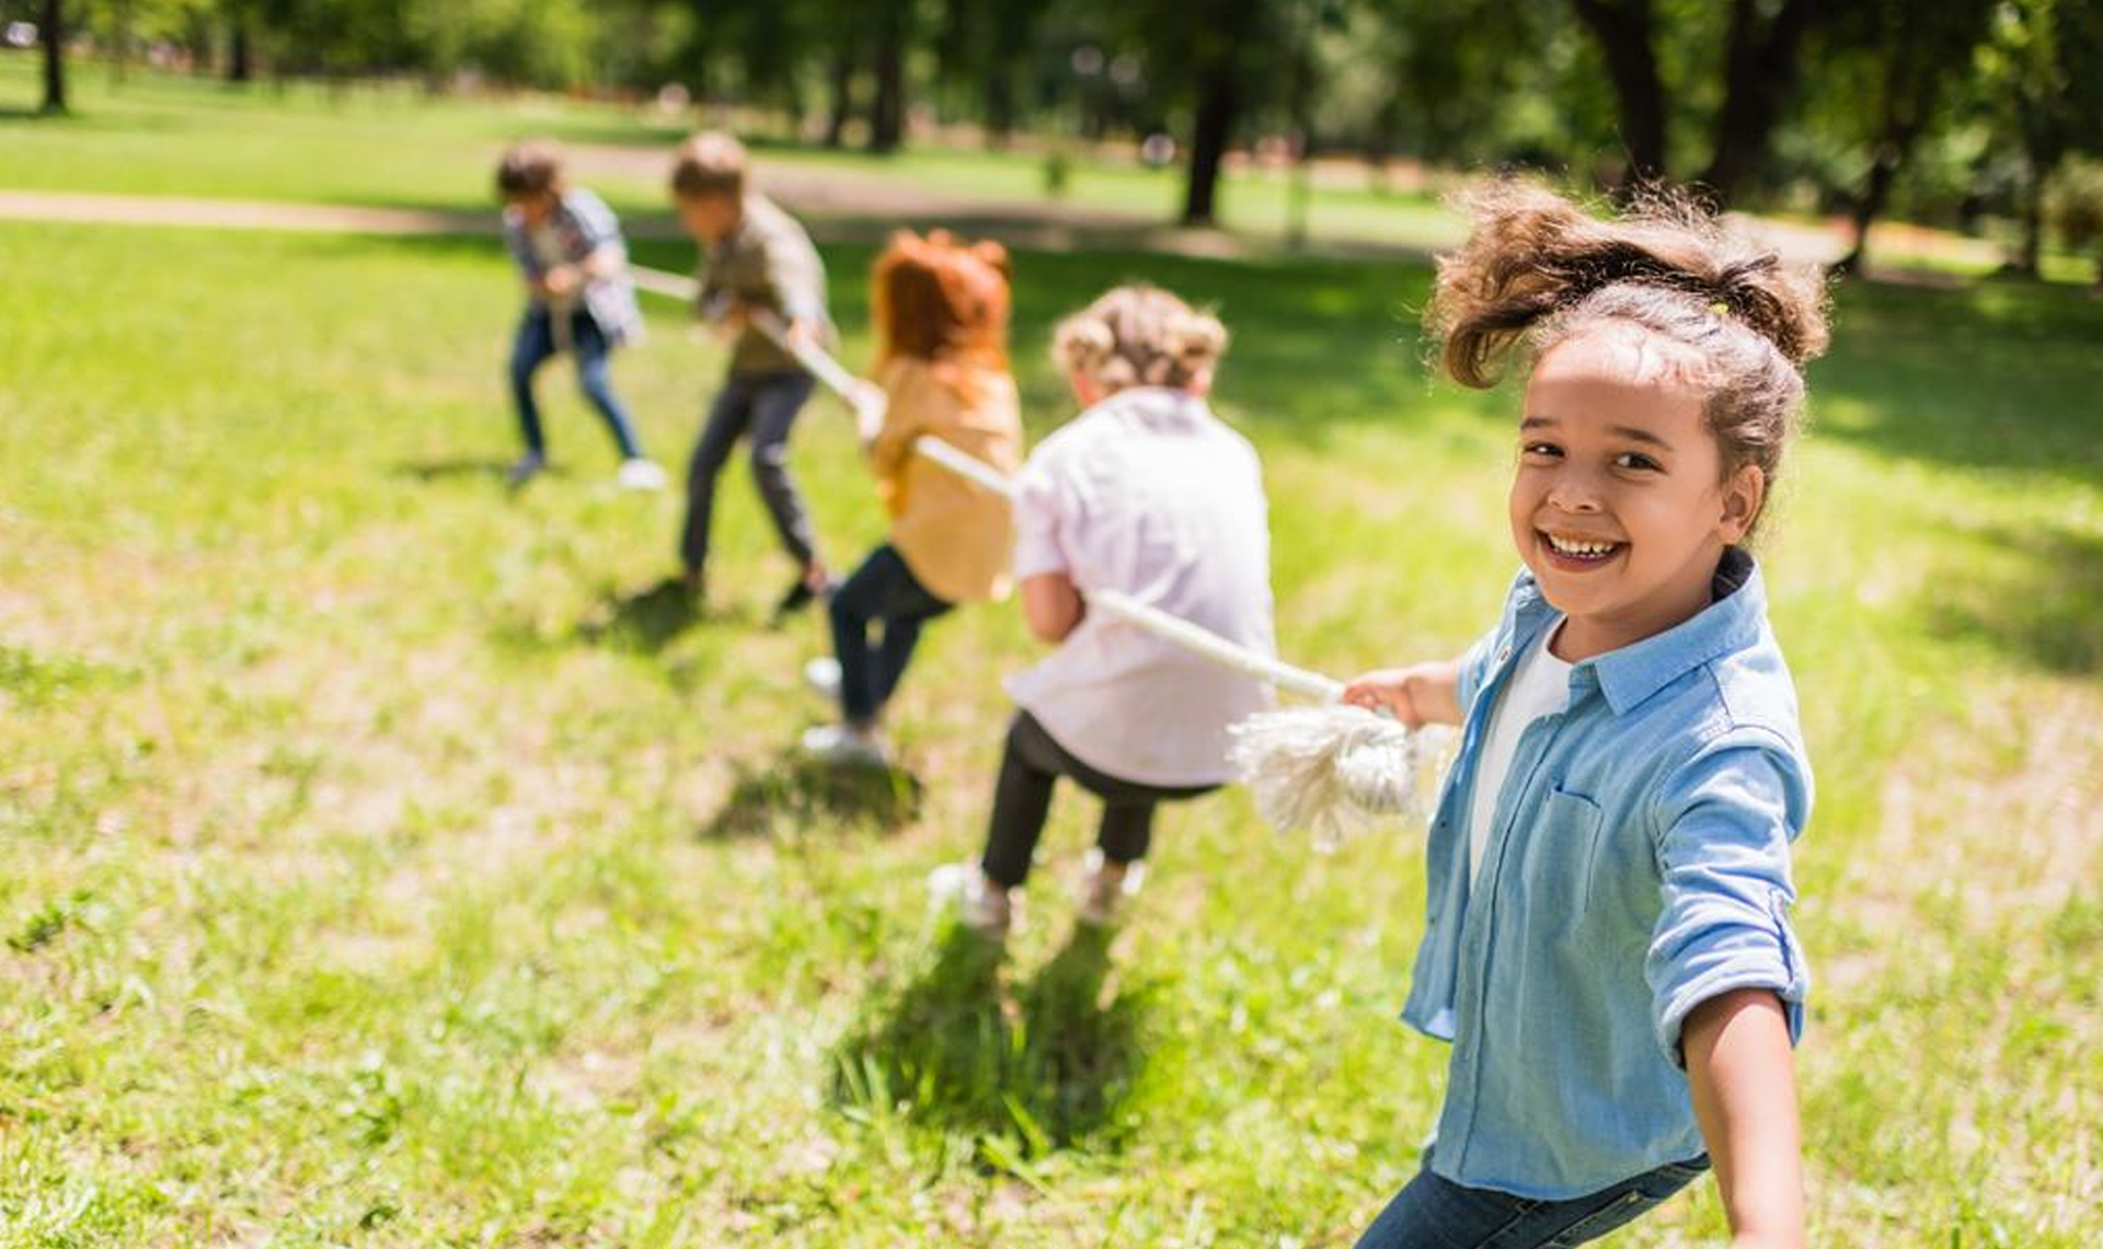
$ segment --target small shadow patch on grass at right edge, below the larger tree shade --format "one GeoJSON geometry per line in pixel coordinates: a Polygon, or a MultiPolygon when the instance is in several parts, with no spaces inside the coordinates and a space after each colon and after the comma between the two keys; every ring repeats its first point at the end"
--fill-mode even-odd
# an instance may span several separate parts
{"type": "Polygon", "coordinates": [[[1928,629],[2048,673],[2103,677],[2103,540],[2071,530],[1973,536],[2000,557],[1937,578],[1928,629]]]}

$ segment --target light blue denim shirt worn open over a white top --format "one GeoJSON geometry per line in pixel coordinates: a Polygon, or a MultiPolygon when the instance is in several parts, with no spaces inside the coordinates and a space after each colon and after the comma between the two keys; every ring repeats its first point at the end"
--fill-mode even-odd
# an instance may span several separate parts
{"type": "Polygon", "coordinates": [[[1792,1041],[1802,1030],[1788,906],[1811,763],[1796,688],[1752,557],[1727,551],[1714,593],[1691,620],[1571,669],[1563,711],[1518,738],[1472,885],[1489,719],[1514,660],[1558,620],[1531,574],[1462,660],[1462,749],[1430,828],[1403,1007],[1453,1043],[1430,1167],[1455,1184],[1571,1199],[1693,1159],[1687,1013],[1773,988],[1792,1041]]]}

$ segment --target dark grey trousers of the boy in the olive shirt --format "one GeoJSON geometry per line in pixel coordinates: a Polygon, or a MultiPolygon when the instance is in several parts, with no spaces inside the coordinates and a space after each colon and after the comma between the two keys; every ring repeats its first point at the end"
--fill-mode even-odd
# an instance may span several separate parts
{"type": "Polygon", "coordinates": [[[709,423],[694,444],[694,460],[686,469],[686,528],[679,534],[679,559],[688,572],[709,566],[709,526],[715,519],[715,479],[730,460],[730,450],[747,433],[753,435],[753,482],[774,517],[782,549],[808,568],[818,557],[818,538],[810,528],[810,511],[789,477],[789,429],[797,410],[810,400],[814,378],[808,372],[734,372],[723,378],[709,423]]]}

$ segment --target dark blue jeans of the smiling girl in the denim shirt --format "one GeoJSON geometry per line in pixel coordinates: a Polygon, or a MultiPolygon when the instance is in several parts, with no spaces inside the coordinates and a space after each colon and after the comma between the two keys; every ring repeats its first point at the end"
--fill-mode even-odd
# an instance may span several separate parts
{"type": "Polygon", "coordinates": [[[1434,1175],[1430,1156],[1359,1236],[1359,1249],[1569,1249],[1634,1222],[1708,1171],[1708,1156],[1666,1163],[1573,1201],[1529,1201],[1434,1175]]]}

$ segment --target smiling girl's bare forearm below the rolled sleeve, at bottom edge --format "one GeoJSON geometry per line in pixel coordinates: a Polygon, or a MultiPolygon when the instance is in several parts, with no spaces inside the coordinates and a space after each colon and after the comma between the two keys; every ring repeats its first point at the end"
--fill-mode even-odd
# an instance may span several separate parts
{"type": "Polygon", "coordinates": [[[1796,1058],[1781,999],[1769,988],[1712,997],[1687,1016],[1680,1041],[1733,1249],[1802,1249],[1796,1058]]]}

